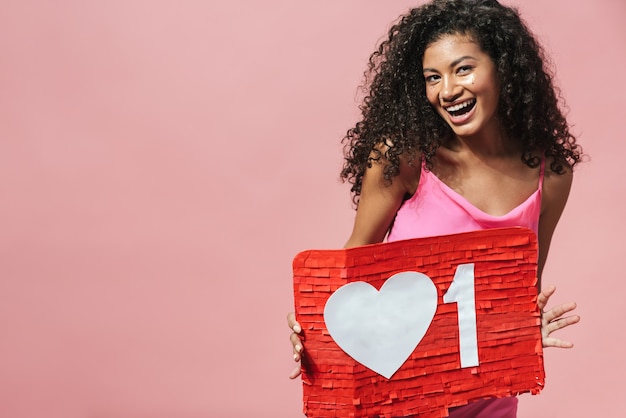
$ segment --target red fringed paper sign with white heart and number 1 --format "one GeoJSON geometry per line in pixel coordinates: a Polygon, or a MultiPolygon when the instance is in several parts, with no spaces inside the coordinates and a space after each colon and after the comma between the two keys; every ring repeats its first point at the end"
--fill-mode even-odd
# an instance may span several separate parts
{"type": "Polygon", "coordinates": [[[293,271],[308,417],[441,418],[544,385],[528,229],[305,251],[293,271]]]}

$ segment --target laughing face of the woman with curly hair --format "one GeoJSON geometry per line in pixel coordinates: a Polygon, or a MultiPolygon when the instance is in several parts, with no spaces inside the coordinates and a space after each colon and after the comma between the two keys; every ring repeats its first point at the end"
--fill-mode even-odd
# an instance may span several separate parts
{"type": "Polygon", "coordinates": [[[442,36],[426,48],[422,64],[426,97],[458,137],[498,132],[496,68],[471,36],[442,36]]]}

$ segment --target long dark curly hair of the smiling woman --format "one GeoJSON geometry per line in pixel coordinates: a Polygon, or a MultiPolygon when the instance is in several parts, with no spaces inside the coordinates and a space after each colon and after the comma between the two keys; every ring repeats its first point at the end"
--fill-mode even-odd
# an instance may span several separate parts
{"type": "Polygon", "coordinates": [[[416,155],[432,168],[452,129],[426,98],[422,59],[426,48],[449,34],[470,36],[493,60],[500,85],[497,117],[509,138],[520,141],[522,161],[565,172],[582,149],[559,107],[548,59],[514,8],[496,0],[433,0],[401,16],[370,56],[365,72],[362,118],[343,138],[341,178],[352,184],[358,204],[363,174],[384,158],[387,183],[400,172],[400,158],[416,155]]]}

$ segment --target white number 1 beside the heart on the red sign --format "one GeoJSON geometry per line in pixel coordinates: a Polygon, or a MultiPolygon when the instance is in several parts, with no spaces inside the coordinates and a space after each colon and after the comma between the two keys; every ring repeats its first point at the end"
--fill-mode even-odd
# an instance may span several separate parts
{"type": "Polygon", "coordinates": [[[461,367],[478,366],[474,263],[458,265],[452,284],[443,295],[443,301],[457,304],[461,367]]]}

